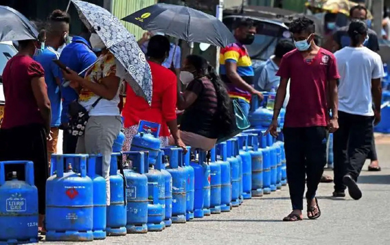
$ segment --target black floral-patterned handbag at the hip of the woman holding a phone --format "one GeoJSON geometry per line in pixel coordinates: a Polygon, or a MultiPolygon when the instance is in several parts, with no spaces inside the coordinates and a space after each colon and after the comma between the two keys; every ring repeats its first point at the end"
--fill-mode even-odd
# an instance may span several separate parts
{"type": "Polygon", "coordinates": [[[84,106],[80,105],[77,100],[69,104],[68,115],[70,117],[70,120],[68,132],[70,135],[78,137],[84,135],[85,126],[87,126],[87,122],[89,119],[89,111],[92,110],[100,100],[102,100],[102,97],[99,97],[98,100],[93,102],[89,110],[84,108],[84,106]]]}

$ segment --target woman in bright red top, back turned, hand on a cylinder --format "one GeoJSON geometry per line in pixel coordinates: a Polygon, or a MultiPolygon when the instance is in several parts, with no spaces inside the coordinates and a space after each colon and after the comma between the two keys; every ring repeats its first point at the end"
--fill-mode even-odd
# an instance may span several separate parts
{"type": "Polygon", "coordinates": [[[176,122],[176,75],[161,64],[168,57],[170,42],[165,36],[153,36],[149,40],[147,56],[152,71],[153,95],[152,105],[144,98],[135,95],[127,85],[126,104],[122,111],[126,141],[124,151],[130,150],[131,141],[137,134],[140,120],[152,121],[161,125],[161,147],[168,146],[168,138],[172,134],[174,144],[185,149],[181,141],[176,122]]]}

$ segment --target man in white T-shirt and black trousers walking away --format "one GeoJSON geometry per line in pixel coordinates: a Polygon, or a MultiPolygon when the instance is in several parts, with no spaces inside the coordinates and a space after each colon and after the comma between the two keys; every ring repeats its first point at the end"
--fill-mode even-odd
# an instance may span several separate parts
{"type": "Polygon", "coordinates": [[[352,21],[348,29],[351,45],[334,53],[341,79],[340,128],[334,133],[333,196],[345,196],[347,185],[349,195],[355,200],[362,197],[356,181],[371,150],[373,117],[375,124],[380,121],[380,79],[385,76],[380,56],[363,45],[368,33],[365,22],[352,21]]]}

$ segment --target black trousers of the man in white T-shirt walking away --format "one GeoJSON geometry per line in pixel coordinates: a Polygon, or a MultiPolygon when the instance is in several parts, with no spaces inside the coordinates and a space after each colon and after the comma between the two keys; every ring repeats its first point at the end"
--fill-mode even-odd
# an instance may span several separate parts
{"type": "Polygon", "coordinates": [[[372,144],[372,117],[339,111],[339,130],[334,132],[334,190],[344,191],[343,176],[358,179],[372,144]]]}

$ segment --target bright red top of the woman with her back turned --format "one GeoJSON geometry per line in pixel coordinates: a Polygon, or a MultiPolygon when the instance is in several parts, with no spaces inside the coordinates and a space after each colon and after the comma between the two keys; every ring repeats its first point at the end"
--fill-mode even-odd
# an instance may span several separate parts
{"type": "Polygon", "coordinates": [[[124,126],[138,125],[140,120],[152,121],[161,124],[160,136],[168,137],[170,131],[166,122],[176,119],[176,75],[157,63],[149,61],[149,65],[153,80],[152,106],[127,85],[126,104],[122,111],[124,126]]]}

